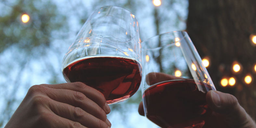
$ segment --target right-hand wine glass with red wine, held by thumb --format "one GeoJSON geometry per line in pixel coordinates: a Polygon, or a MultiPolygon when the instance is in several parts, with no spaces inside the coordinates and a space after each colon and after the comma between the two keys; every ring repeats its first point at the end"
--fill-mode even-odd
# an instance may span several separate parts
{"type": "Polygon", "coordinates": [[[216,90],[186,32],[142,42],[145,116],[161,128],[202,128],[212,111],[206,93],[216,90]]]}

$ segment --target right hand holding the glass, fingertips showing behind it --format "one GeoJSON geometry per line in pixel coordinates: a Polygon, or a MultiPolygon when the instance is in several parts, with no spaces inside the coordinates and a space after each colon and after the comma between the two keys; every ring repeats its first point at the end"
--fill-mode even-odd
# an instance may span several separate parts
{"type": "MultiPolygon", "coordinates": [[[[164,73],[152,72],[146,76],[149,85],[173,79],[174,76],[164,73]]],[[[206,94],[206,101],[213,113],[206,118],[208,123],[203,128],[256,128],[255,122],[239,105],[235,96],[211,90],[206,94]]],[[[142,102],[138,111],[140,115],[145,115],[142,102]]]]}

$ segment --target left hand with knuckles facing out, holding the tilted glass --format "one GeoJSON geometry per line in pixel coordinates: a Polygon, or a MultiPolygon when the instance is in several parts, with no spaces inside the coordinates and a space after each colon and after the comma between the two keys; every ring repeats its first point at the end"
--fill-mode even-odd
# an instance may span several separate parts
{"type": "Polygon", "coordinates": [[[5,128],[110,128],[105,97],[83,83],[32,86],[5,128]]]}

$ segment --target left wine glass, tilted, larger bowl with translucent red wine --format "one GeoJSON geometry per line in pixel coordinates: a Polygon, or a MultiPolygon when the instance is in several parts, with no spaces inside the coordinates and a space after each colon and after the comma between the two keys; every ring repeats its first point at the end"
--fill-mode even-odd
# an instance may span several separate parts
{"type": "Polygon", "coordinates": [[[62,61],[67,82],[83,82],[108,104],[134,95],[141,82],[139,24],[118,6],[96,9],[78,32],[62,61]]]}

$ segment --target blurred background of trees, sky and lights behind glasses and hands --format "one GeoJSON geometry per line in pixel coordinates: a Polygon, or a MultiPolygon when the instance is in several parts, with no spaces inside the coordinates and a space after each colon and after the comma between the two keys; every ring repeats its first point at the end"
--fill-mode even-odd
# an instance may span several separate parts
{"type": "MultiPolygon", "coordinates": [[[[217,90],[256,118],[256,0],[0,0],[0,128],[35,84],[65,83],[61,62],[101,6],[131,11],[141,40],[188,32],[217,90]]],[[[141,90],[110,105],[111,128],[157,128],[137,112],[141,90]]]]}

